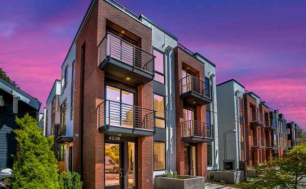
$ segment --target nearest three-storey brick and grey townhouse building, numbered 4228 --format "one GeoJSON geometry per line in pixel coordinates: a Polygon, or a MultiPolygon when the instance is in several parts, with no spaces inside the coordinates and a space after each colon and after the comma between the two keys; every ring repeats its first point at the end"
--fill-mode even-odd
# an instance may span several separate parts
{"type": "Polygon", "coordinates": [[[85,188],[207,176],[219,166],[215,67],[144,15],[93,0],[61,68],[58,160],[85,188]]]}

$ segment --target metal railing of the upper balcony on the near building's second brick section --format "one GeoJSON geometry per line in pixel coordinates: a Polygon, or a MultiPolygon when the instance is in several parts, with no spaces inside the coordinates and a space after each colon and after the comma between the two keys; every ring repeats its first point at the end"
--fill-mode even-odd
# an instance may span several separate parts
{"type": "Polygon", "coordinates": [[[192,91],[208,99],[212,98],[212,86],[209,83],[189,75],[180,80],[181,94],[192,91]]]}

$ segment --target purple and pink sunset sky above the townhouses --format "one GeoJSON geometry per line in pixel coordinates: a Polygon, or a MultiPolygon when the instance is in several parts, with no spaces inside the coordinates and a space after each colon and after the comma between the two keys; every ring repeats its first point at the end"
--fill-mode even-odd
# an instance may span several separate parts
{"type": "MultiPolygon", "coordinates": [[[[306,128],[306,1],[117,1],[306,128]]],[[[45,105],[90,0],[4,1],[0,67],[45,105]]]]}

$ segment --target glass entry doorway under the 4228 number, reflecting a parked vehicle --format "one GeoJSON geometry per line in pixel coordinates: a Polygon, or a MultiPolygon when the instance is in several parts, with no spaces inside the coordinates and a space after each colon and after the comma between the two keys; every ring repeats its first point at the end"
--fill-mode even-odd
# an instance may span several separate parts
{"type": "Polygon", "coordinates": [[[116,140],[105,141],[105,188],[135,188],[136,142],[116,140]]]}

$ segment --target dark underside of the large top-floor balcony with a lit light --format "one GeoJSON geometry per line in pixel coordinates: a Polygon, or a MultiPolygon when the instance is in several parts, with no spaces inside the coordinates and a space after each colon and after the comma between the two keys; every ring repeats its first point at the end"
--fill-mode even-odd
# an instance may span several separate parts
{"type": "Polygon", "coordinates": [[[104,70],[105,74],[110,77],[135,85],[146,84],[154,78],[154,75],[146,71],[133,68],[132,65],[125,64],[124,62],[111,57],[107,57],[100,62],[99,68],[104,70]],[[130,80],[126,80],[127,77],[129,77],[130,80]]]}

